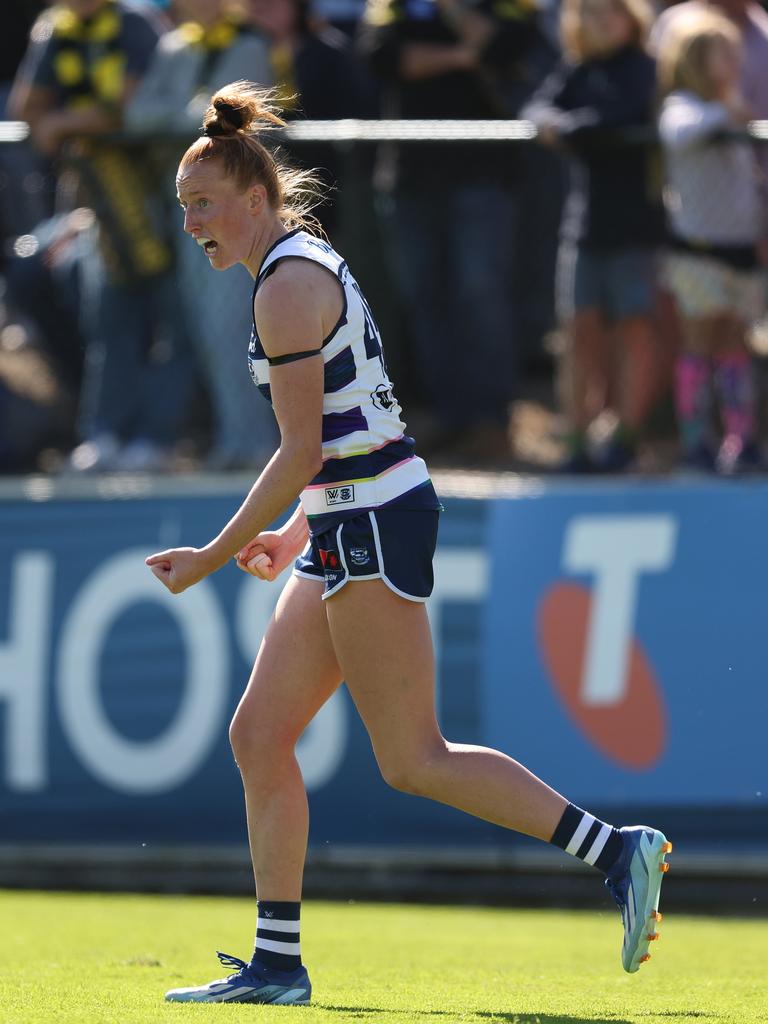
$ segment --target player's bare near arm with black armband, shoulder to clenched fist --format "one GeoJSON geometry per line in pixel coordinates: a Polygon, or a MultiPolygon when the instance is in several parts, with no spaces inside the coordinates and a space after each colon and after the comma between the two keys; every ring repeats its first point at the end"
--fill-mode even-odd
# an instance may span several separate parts
{"type": "Polygon", "coordinates": [[[286,261],[259,289],[254,316],[271,361],[270,388],[280,447],[240,509],[210,544],[161,552],[146,559],[172,593],[180,593],[226,564],[276,519],[318,472],[323,465],[323,339],[340,311],[339,286],[327,270],[308,261],[286,261]]]}

